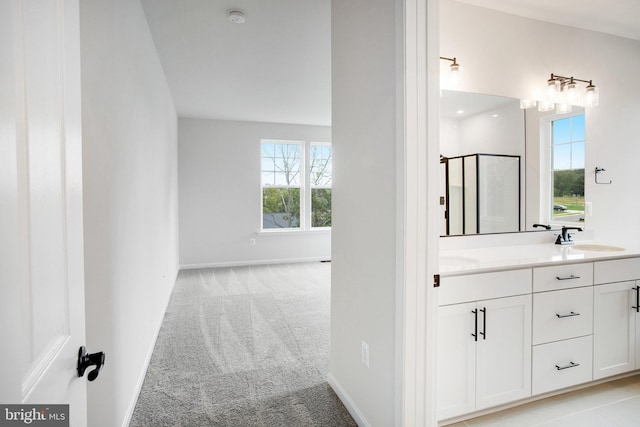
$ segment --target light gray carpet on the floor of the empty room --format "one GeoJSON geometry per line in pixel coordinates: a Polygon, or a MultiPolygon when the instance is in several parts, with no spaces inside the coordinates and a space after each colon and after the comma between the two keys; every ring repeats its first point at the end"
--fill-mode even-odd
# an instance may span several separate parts
{"type": "Polygon", "coordinates": [[[181,271],[130,426],[356,426],[325,379],[330,271],[181,271]]]}

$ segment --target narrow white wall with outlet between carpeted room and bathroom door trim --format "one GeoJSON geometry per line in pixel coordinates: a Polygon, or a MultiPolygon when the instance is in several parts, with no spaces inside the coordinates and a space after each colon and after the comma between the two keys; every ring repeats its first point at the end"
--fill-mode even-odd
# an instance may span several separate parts
{"type": "Polygon", "coordinates": [[[360,425],[396,424],[396,2],[332,1],[329,382],[360,425]],[[370,365],[361,362],[361,342],[370,365]]]}

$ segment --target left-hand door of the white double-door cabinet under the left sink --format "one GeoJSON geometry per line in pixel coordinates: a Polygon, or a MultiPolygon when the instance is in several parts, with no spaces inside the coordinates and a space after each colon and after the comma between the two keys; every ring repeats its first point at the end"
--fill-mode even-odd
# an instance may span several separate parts
{"type": "Polygon", "coordinates": [[[438,309],[438,419],[475,409],[475,303],[438,309]]]}

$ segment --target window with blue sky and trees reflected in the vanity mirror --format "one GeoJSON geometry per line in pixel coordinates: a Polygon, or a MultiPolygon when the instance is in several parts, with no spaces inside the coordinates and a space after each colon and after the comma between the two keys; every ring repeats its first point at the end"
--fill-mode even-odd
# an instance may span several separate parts
{"type": "Polygon", "coordinates": [[[584,221],[585,116],[551,122],[551,188],[554,222],[584,221]]]}

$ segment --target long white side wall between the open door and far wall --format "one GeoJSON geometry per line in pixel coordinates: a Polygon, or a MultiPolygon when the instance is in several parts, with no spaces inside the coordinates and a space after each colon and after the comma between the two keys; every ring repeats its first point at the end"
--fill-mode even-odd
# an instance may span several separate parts
{"type": "Polygon", "coordinates": [[[88,425],[128,423],[178,269],[177,117],[137,0],[80,4],[88,425]]]}

